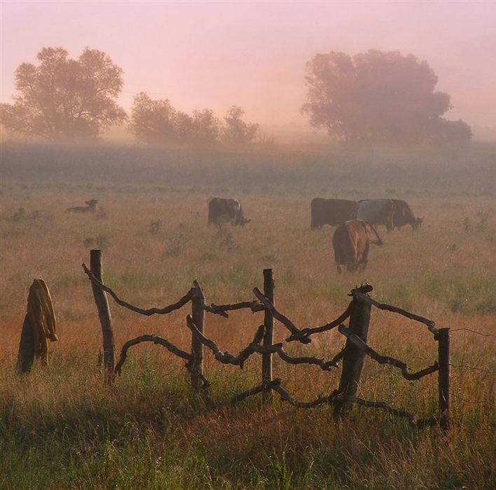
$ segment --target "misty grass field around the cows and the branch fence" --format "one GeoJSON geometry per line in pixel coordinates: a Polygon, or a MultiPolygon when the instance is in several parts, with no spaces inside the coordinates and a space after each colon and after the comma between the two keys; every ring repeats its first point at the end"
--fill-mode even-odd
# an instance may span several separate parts
{"type": "MultiPolygon", "coordinates": [[[[2,146],[0,209],[1,489],[493,489],[496,488],[496,157],[470,152],[273,148],[187,153],[139,147],[2,146]],[[251,223],[207,225],[212,197],[237,197],[251,223]],[[313,197],[394,197],[425,221],[379,233],[364,272],[338,274],[333,229],[310,230],[313,197]],[[97,199],[94,214],[67,208],[97,199]],[[371,297],[452,329],[453,423],[412,430],[406,419],[354,407],[297,409],[256,395],[209,411],[191,393],[183,363],[160,346],[130,350],[123,374],[104,386],[102,332],[81,264],[101,248],[104,282],[142,308],[179,300],[198,280],[207,304],[254,300],[262,271],[275,275],[275,304],[298,328],[323,325],[370,283],[371,297]],[[15,374],[27,290],[44,279],[59,342],[50,364],[15,374]],[[484,335],[481,335],[484,334],[484,335]]],[[[116,349],[154,333],[188,351],[185,307],[144,317],[111,302],[116,349]]],[[[205,334],[237,354],[263,314],[206,315],[205,334]]],[[[287,331],[276,323],[275,340],[287,331]]],[[[337,331],[292,355],[331,359],[337,331]]],[[[425,325],[373,310],[368,343],[412,370],[436,360],[425,325]]],[[[212,398],[260,383],[260,356],[243,370],[211,353],[212,398]]],[[[340,371],[290,366],[275,377],[301,401],[338,387],[340,371]]],[[[366,359],[359,396],[419,416],[437,410],[437,377],[406,381],[366,359]]]]}

